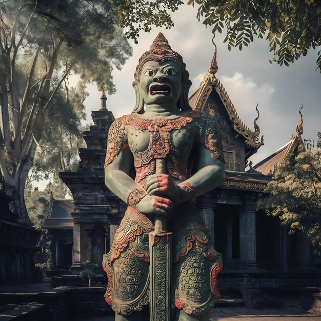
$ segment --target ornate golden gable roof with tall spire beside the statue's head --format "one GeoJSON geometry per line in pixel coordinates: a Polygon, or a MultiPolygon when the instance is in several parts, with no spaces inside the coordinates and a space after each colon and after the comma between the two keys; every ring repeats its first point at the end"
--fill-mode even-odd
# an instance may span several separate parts
{"type": "Polygon", "coordinates": [[[260,130],[258,125],[256,124],[259,116],[257,108],[256,111],[258,115],[254,119],[254,131],[252,131],[240,120],[225,88],[215,77],[215,73],[217,72],[217,70],[218,67],[216,63],[216,46],[214,44],[214,56],[208,68],[208,72],[205,74],[203,82],[200,83],[199,87],[190,95],[190,106],[195,110],[203,111],[207,104],[208,98],[214,89],[217,92],[220,100],[222,101],[223,106],[225,107],[230,118],[230,121],[232,121],[233,123],[234,130],[245,138],[245,144],[247,144],[251,148],[258,149],[260,146],[264,145],[264,143],[263,136],[259,139],[260,130]]]}

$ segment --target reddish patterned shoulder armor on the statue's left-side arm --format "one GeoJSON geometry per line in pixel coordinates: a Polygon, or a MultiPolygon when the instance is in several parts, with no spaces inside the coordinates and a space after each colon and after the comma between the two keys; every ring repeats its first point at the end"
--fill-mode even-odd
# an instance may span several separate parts
{"type": "Polygon", "coordinates": [[[124,117],[115,119],[109,128],[104,168],[114,160],[119,151],[128,148],[127,128],[123,121],[124,117]]]}

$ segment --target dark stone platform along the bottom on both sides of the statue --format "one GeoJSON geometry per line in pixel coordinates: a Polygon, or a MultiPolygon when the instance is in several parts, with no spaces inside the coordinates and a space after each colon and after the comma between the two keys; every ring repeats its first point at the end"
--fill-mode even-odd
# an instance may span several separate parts
{"type": "MultiPolygon", "coordinates": [[[[8,285],[0,287],[0,320],[57,320],[57,321],[114,321],[114,313],[104,302],[105,287],[57,287],[50,282],[8,285]]],[[[264,310],[243,306],[242,298],[224,296],[210,312],[211,321],[268,321],[268,320],[320,320],[321,313],[316,309],[301,309],[301,304],[318,306],[307,296],[315,297],[317,288],[307,288],[304,300],[298,296],[283,298],[284,307],[264,310]],[[313,290],[313,291],[312,291],[313,290]],[[310,292],[313,296],[310,295],[310,292]]]]}

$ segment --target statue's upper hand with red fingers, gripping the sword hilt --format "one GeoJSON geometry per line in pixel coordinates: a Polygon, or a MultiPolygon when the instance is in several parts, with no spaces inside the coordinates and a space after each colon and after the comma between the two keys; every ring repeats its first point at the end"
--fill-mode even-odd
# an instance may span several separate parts
{"type": "Polygon", "coordinates": [[[149,195],[168,196],[175,204],[179,203],[179,188],[169,175],[150,175],[147,178],[146,189],[149,195]]]}

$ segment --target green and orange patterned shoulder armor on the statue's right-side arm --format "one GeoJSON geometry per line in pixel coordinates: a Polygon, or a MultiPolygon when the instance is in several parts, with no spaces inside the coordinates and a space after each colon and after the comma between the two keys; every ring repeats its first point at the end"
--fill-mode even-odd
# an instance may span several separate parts
{"type": "Polygon", "coordinates": [[[222,148],[222,137],[217,123],[217,118],[211,116],[207,112],[198,113],[198,142],[200,144],[204,144],[204,146],[211,151],[215,158],[225,163],[222,148]]]}

